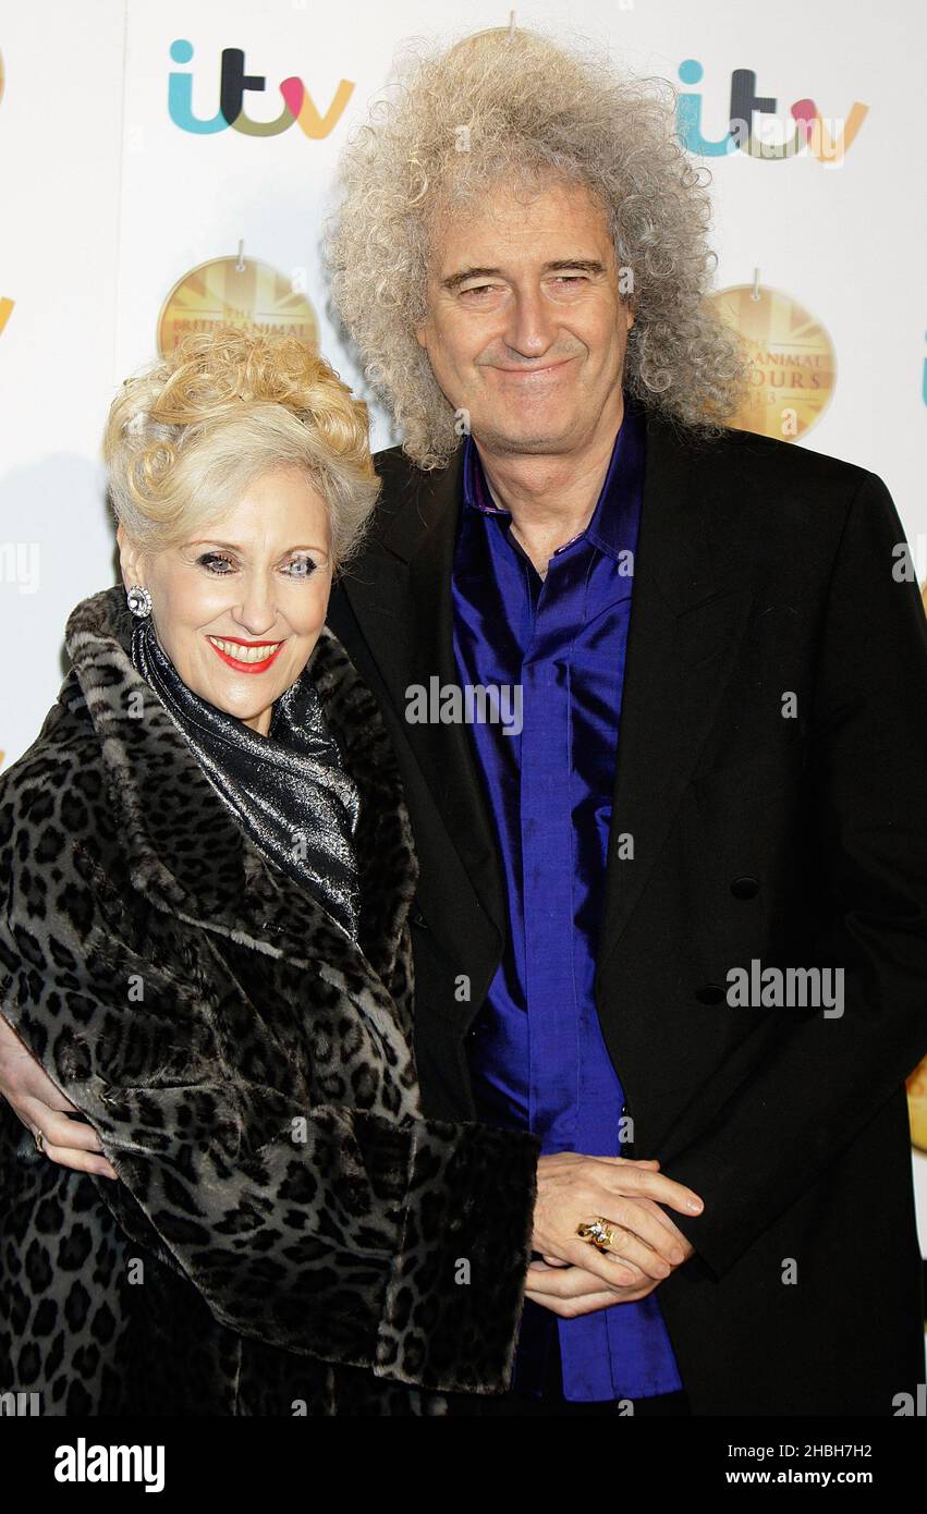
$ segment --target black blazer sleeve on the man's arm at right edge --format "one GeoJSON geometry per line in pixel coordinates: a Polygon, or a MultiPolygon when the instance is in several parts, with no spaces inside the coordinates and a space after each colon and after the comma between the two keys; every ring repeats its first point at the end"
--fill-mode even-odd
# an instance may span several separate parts
{"type": "MultiPolygon", "coordinates": [[[[809,766],[833,908],[801,966],[842,967],[844,1013],[783,1010],[721,1108],[663,1170],[704,1199],[673,1222],[719,1278],[895,1095],[927,1049],[927,619],[885,483],[866,474],[829,586],[809,766]],[[757,1114],[782,1110],[776,1139],[757,1114]],[[744,1152],[750,1152],[750,1163],[744,1152]]],[[[800,966],[800,963],[795,963],[800,966]]],[[[865,1216],[860,1216],[865,1219],[865,1216]]]]}

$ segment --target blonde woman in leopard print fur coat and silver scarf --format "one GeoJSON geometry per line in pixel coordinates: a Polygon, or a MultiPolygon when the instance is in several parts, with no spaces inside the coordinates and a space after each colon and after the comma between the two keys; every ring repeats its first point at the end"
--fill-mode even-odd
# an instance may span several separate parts
{"type": "Polygon", "coordinates": [[[0,1390],[447,1413],[507,1385],[539,1143],[421,1113],[409,819],[324,625],[365,406],[221,329],[123,386],[105,454],[124,587],[0,780],[3,1016],[89,1122],[76,1172],[0,1102],[0,1390]]]}

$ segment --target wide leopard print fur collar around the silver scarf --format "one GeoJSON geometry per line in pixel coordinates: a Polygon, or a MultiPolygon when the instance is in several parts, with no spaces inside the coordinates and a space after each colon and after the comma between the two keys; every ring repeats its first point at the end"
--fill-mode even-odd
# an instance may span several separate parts
{"type": "Polygon", "coordinates": [[[85,706],[111,778],[130,880],[158,908],[223,931],[271,955],[298,960],[311,933],[330,963],[365,957],[389,986],[418,866],[398,765],[377,702],[341,642],[323,627],[309,668],[332,734],[360,790],[357,861],[360,946],[323,905],[283,881],[200,769],[132,656],[133,616],[121,586],[71,612],[71,674],[62,698],[85,706]],[[191,827],[191,815],[197,818],[191,827]]]}

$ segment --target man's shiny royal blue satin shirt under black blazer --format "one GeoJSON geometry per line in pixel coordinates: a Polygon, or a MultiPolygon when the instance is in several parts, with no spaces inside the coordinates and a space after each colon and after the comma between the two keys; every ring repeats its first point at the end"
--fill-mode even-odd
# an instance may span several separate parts
{"type": "MultiPolygon", "coordinates": [[[[504,871],[509,939],[470,1037],[474,1098],[491,1125],[529,1128],[542,1152],[623,1155],[621,1083],[594,978],[644,481],[645,425],[624,416],[589,525],[541,578],[495,506],[473,438],[454,547],[454,657],[462,684],[521,687],[506,719],[470,727],[504,871]],[[506,728],[507,725],[507,728],[506,728]],[[521,730],[518,730],[521,725],[521,730]]],[[[492,706],[489,706],[492,709],[492,706]]],[[[627,1148],[624,1148],[627,1151],[627,1148]]],[[[648,1397],[682,1387],[657,1302],[580,1319],[526,1301],[515,1385],[541,1391],[559,1331],[563,1396],[648,1397]]]]}

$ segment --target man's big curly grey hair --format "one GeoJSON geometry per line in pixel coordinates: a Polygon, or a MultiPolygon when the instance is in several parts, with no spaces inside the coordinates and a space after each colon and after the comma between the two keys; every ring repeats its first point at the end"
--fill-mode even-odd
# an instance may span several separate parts
{"type": "Polygon", "coordinates": [[[430,232],[500,180],[592,191],[618,268],[633,276],[627,389],[706,438],[719,435],[750,363],[706,301],[716,262],[706,242],[707,170],[679,142],[674,103],[668,80],[620,74],[601,53],[521,29],[414,47],[398,64],[348,136],[324,256],[335,312],[420,468],[445,466],[460,444],[415,338],[430,232]]]}

